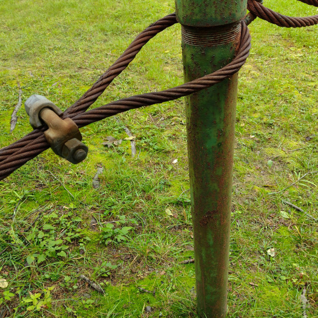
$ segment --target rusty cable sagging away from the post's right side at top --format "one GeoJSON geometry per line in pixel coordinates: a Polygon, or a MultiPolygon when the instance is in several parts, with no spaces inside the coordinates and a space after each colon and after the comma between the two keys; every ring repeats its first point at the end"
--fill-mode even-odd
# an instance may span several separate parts
{"type": "Polygon", "coordinates": [[[298,28],[318,24],[318,15],[291,17],[275,12],[256,0],[248,0],[247,9],[259,18],[281,27],[298,28]]]}

